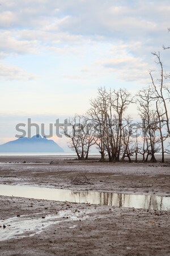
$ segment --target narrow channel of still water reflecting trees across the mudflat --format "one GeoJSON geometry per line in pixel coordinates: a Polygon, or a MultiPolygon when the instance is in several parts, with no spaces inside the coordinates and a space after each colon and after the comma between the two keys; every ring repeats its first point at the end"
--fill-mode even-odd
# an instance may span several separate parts
{"type": "Polygon", "coordinates": [[[100,191],[74,192],[69,189],[40,188],[28,185],[0,185],[0,195],[136,209],[170,210],[170,197],[155,195],[135,195],[100,191]]]}

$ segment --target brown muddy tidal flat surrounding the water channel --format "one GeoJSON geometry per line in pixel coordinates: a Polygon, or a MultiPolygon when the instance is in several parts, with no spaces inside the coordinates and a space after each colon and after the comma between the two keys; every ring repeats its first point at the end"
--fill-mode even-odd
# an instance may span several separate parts
{"type": "MultiPolygon", "coordinates": [[[[170,193],[169,162],[113,164],[58,159],[49,164],[50,160],[1,157],[0,183],[74,191],[170,193]],[[71,184],[81,173],[93,184],[71,184]]],[[[0,203],[0,255],[170,255],[168,211],[6,196],[0,196],[0,203]]]]}

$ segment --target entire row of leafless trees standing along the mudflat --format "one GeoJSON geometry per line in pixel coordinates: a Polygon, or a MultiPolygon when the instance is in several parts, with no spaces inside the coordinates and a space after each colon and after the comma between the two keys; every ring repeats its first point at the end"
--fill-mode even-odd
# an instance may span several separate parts
{"type": "MultiPolygon", "coordinates": [[[[165,48],[165,47],[164,47],[165,48]]],[[[168,47],[167,47],[168,48],[168,47]]],[[[69,130],[63,134],[69,137],[69,147],[76,152],[78,159],[87,159],[90,147],[95,145],[101,154],[101,161],[106,156],[109,162],[129,159],[138,154],[147,162],[149,156],[156,162],[155,153],[168,151],[170,137],[168,104],[170,75],[164,73],[160,53],[152,53],[159,66],[159,72],[150,71],[151,84],[131,97],[126,89],[107,91],[99,88],[97,96],[90,101],[86,116],[75,115],[69,120],[69,130]],[[126,110],[130,104],[138,109],[139,121],[128,116],[126,110]]]]}

